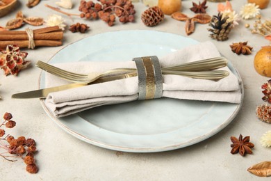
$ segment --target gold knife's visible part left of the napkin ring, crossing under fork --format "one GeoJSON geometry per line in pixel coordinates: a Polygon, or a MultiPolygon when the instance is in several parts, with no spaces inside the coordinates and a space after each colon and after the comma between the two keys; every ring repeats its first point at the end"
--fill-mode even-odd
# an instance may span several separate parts
{"type": "MultiPolygon", "coordinates": [[[[91,82],[90,84],[98,84],[106,81],[114,81],[118,79],[126,79],[129,77],[136,77],[138,74],[136,72],[133,73],[127,73],[127,74],[118,74],[110,77],[101,77],[97,79],[96,81],[91,82]]],[[[63,91],[69,88],[78,88],[81,86],[87,86],[90,84],[66,84],[63,86],[56,86],[56,87],[51,87],[51,88],[43,88],[43,89],[38,89],[35,91],[28,91],[24,93],[16,93],[13,94],[11,97],[15,99],[28,99],[28,98],[44,98],[47,97],[49,93],[57,92],[57,91],[63,91]]]]}

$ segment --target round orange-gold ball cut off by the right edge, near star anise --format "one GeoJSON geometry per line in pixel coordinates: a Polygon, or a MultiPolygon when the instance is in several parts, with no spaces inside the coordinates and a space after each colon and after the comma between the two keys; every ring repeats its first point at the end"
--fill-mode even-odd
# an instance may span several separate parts
{"type": "Polygon", "coordinates": [[[262,47],[254,57],[254,68],[258,74],[271,77],[271,46],[262,47]]]}

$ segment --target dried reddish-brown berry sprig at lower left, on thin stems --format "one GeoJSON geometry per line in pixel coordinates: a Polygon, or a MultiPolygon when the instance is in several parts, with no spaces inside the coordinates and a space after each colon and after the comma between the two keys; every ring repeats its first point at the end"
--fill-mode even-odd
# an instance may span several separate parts
{"type": "Polygon", "coordinates": [[[17,161],[14,158],[22,158],[26,164],[26,171],[29,173],[37,173],[38,166],[35,164],[34,159],[34,153],[37,150],[35,147],[35,140],[26,139],[24,136],[19,136],[15,139],[10,134],[6,134],[5,129],[3,129],[3,126],[6,126],[7,128],[15,127],[16,122],[11,120],[12,118],[13,116],[11,113],[5,113],[3,115],[4,120],[0,125],[0,149],[6,150],[6,152],[1,152],[0,157],[3,157],[3,159],[10,162],[17,161]]]}

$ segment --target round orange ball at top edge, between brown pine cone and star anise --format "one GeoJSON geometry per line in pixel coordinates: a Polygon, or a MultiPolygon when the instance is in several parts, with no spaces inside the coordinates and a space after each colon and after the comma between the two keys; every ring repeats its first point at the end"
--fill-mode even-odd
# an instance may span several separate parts
{"type": "Polygon", "coordinates": [[[181,0],[158,0],[158,7],[165,15],[171,15],[181,10],[181,0]]]}

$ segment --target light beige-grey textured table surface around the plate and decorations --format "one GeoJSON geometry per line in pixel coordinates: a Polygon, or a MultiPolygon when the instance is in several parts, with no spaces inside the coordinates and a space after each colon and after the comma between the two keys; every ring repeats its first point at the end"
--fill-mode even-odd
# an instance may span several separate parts
{"type": "MultiPolygon", "coordinates": [[[[56,1],[41,1],[35,8],[28,9],[24,1],[13,13],[1,17],[0,25],[4,26],[8,19],[15,17],[17,10],[22,10],[27,16],[40,16],[59,14],[45,8],[44,4],[55,6],[56,1]]],[[[238,13],[246,0],[231,1],[233,10],[238,13]]],[[[4,76],[0,72],[0,115],[6,111],[13,113],[17,126],[10,131],[14,136],[24,135],[32,137],[38,143],[38,154],[35,156],[39,171],[35,175],[26,173],[25,165],[21,160],[7,162],[0,159],[1,180],[259,180],[256,176],[247,172],[247,168],[258,162],[270,159],[270,148],[263,148],[259,142],[263,133],[271,129],[271,125],[262,123],[256,118],[254,110],[262,104],[261,84],[268,80],[261,77],[254,70],[254,56],[261,46],[268,45],[268,40],[261,36],[253,35],[245,29],[245,24],[252,20],[242,20],[230,34],[229,40],[218,42],[211,40],[207,24],[197,24],[195,33],[190,35],[199,42],[211,40],[226,57],[231,59],[234,67],[240,72],[245,84],[245,98],[240,112],[234,120],[221,132],[210,139],[206,139],[195,145],[178,150],[155,153],[130,153],[117,152],[90,145],[60,129],[44,112],[38,99],[14,100],[13,93],[28,91],[38,88],[38,79],[41,70],[35,68],[38,60],[49,61],[51,56],[63,47],[93,36],[97,33],[108,31],[147,29],[175,33],[186,36],[184,22],[177,22],[169,16],[165,17],[162,24],[152,28],[145,26],[141,19],[141,13],[146,9],[142,3],[134,3],[136,7],[136,22],[129,24],[116,24],[109,27],[99,21],[87,21],[74,17],[74,22],[81,22],[90,26],[90,31],[85,34],[65,31],[63,46],[39,47],[28,52],[28,60],[31,66],[18,77],[4,76]],[[236,55],[231,52],[229,45],[232,42],[248,41],[254,47],[252,55],[236,55]],[[231,155],[230,136],[251,136],[255,144],[252,155],[241,157],[231,155]]],[[[183,1],[183,13],[192,15],[188,9],[192,1],[183,1]]],[[[74,1],[74,8],[69,12],[79,13],[79,1],[74,1]]],[[[207,13],[217,14],[217,3],[208,2],[207,13]]],[[[271,5],[261,10],[265,18],[271,18],[271,5]]],[[[65,17],[65,15],[63,15],[65,17]]],[[[67,24],[73,24],[72,19],[65,17],[67,24]]],[[[28,27],[24,26],[22,29],[28,27]]],[[[263,178],[267,180],[268,178],[263,178]]]]}

